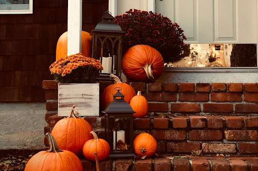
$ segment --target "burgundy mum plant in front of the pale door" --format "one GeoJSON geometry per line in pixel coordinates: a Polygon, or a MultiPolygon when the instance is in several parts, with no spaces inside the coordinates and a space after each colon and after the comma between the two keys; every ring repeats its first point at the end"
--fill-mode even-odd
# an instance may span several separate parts
{"type": "Polygon", "coordinates": [[[178,24],[172,23],[161,14],[130,10],[115,17],[121,29],[125,31],[123,37],[123,53],[137,44],[147,44],[157,49],[165,62],[175,62],[182,58],[185,49],[183,40],[186,37],[178,24]]]}

